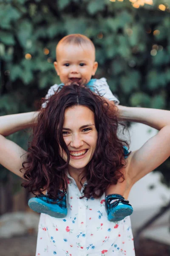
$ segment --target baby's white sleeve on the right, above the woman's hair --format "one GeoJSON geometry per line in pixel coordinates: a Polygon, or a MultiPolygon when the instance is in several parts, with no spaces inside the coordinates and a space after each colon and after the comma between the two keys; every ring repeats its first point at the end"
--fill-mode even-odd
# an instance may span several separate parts
{"type": "Polygon", "coordinates": [[[115,105],[119,105],[119,99],[117,99],[111,92],[105,77],[102,77],[101,79],[96,79],[96,81],[94,82],[94,87],[96,88],[95,93],[99,93],[106,99],[113,101],[115,105]]]}

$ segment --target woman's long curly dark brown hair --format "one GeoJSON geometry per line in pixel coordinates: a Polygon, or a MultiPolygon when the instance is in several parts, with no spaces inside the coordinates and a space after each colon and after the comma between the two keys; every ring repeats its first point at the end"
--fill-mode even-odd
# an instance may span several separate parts
{"type": "MultiPolygon", "coordinates": [[[[51,96],[46,108],[40,110],[38,124],[33,130],[33,139],[28,148],[23,183],[31,192],[42,193],[48,189],[51,198],[58,198],[59,189],[63,196],[67,191],[67,177],[70,153],[62,136],[65,110],[75,105],[88,107],[94,112],[95,126],[98,132],[94,156],[86,166],[84,177],[84,195],[99,198],[110,184],[116,184],[124,175],[120,170],[125,167],[123,146],[128,144],[117,136],[117,108],[108,104],[103,97],[91,92],[85,86],[72,83],[63,86],[51,96]],[[59,145],[68,156],[65,162],[59,154],[59,145]]],[[[82,184],[82,179],[80,180],[82,184]]],[[[82,184],[83,185],[83,184],[82,184]]]]}

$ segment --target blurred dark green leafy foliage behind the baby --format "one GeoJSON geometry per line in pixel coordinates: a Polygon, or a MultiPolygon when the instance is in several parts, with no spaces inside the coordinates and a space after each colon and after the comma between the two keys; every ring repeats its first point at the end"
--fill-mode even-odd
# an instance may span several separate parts
{"type": "MultiPolygon", "coordinates": [[[[96,77],[108,79],[122,105],[170,110],[170,10],[157,9],[164,0],[154,3],[135,9],[128,0],[0,0],[0,115],[38,108],[48,88],[59,83],[56,44],[71,33],[92,39],[96,77]]],[[[27,147],[26,132],[11,139],[27,147]]],[[[169,160],[159,167],[167,185],[169,167],[169,160]]],[[[0,179],[6,174],[1,166],[0,179]]]]}

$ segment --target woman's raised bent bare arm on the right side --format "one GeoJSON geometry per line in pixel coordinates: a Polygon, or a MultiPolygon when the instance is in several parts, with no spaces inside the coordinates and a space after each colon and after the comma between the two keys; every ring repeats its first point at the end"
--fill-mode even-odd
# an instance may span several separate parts
{"type": "Polygon", "coordinates": [[[159,130],[139,150],[132,152],[129,158],[128,174],[132,183],[135,183],[170,156],[170,111],[123,106],[118,106],[118,110],[121,120],[140,122],[159,130]]]}

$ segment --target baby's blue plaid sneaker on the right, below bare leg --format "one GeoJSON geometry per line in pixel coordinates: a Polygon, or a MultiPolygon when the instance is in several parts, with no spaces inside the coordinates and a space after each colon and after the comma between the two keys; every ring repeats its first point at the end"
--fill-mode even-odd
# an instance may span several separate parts
{"type": "Polygon", "coordinates": [[[105,198],[105,207],[109,221],[121,221],[133,212],[133,207],[129,204],[129,201],[118,194],[107,195],[105,198]]]}

